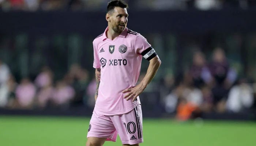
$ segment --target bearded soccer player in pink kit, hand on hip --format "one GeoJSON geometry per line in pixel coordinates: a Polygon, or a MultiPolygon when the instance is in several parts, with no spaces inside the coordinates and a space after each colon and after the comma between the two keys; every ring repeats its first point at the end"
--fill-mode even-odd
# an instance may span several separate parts
{"type": "Polygon", "coordinates": [[[115,142],[117,134],[123,146],[143,142],[139,95],[154,78],[161,61],[147,39],[126,27],[127,8],[124,1],[110,1],[108,27],[93,41],[97,91],[86,146],[115,142]],[[137,85],[142,57],[150,63],[137,85]]]}

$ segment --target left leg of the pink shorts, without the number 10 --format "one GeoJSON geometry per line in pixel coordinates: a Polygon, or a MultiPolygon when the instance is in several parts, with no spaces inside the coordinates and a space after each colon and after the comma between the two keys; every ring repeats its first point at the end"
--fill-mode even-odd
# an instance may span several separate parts
{"type": "Polygon", "coordinates": [[[117,131],[109,116],[93,112],[87,133],[87,138],[90,137],[106,138],[106,141],[116,141],[117,131]]]}

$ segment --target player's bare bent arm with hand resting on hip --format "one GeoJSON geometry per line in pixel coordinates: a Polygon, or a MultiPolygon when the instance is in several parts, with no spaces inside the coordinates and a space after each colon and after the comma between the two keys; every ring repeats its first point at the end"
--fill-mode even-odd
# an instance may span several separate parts
{"type": "Polygon", "coordinates": [[[135,87],[125,89],[123,93],[127,93],[127,94],[125,94],[124,98],[126,100],[129,100],[132,98],[132,101],[134,101],[136,97],[139,96],[145,90],[147,85],[154,78],[160,65],[161,65],[161,60],[159,59],[158,55],[150,59],[145,77],[135,87]]]}

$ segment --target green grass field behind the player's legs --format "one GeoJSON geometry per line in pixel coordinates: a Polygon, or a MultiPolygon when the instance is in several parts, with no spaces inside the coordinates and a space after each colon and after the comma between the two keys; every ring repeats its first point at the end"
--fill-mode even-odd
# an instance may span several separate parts
{"type": "MultiPolygon", "coordinates": [[[[0,146],[85,146],[88,125],[89,118],[0,116],[0,146]]],[[[255,146],[256,123],[143,119],[143,137],[141,146],[255,146]]]]}

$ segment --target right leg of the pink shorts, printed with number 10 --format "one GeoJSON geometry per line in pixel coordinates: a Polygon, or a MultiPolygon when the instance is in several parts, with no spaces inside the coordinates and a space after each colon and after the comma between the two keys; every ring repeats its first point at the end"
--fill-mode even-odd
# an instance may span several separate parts
{"type": "Polygon", "coordinates": [[[135,145],[143,142],[141,105],[123,115],[110,116],[122,143],[135,145]]]}

